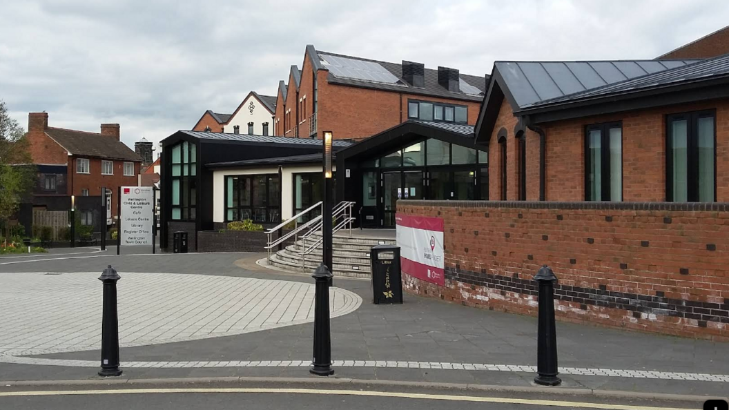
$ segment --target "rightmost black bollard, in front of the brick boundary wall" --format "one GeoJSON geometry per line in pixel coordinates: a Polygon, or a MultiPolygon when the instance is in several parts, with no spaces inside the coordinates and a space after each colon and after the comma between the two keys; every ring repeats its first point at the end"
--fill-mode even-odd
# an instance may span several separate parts
{"type": "Polygon", "coordinates": [[[557,377],[557,331],[554,322],[554,284],[557,276],[548,266],[542,266],[534,275],[539,282],[539,330],[537,334],[537,377],[534,382],[556,386],[562,382],[557,377]]]}

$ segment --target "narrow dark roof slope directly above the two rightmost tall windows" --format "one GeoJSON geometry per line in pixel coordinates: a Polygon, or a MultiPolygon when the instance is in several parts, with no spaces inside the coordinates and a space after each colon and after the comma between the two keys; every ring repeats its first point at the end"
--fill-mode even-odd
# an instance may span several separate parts
{"type": "Polygon", "coordinates": [[[659,71],[654,74],[644,75],[633,80],[618,82],[617,84],[607,85],[593,90],[587,90],[582,93],[574,93],[561,98],[553,98],[534,104],[533,107],[542,105],[558,104],[566,101],[575,101],[583,98],[592,98],[597,96],[607,96],[609,94],[627,93],[632,91],[643,90],[645,88],[659,88],[666,85],[673,85],[679,82],[688,82],[693,80],[708,80],[723,74],[729,74],[729,55],[722,55],[709,60],[698,61],[676,69],[659,71]]]}

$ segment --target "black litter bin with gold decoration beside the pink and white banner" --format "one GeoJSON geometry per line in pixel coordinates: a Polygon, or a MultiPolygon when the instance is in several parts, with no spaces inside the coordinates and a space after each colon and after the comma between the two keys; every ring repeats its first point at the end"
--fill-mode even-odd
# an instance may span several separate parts
{"type": "Polygon", "coordinates": [[[370,253],[372,292],[375,305],[402,303],[402,272],[400,247],[378,245],[370,253]],[[388,254],[386,257],[383,254],[388,254]],[[392,258],[389,258],[392,255],[392,258]]]}

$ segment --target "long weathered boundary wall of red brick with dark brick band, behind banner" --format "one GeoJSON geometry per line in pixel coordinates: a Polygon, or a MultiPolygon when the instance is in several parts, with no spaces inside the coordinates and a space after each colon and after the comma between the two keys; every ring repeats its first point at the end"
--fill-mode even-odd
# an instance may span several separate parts
{"type": "Polygon", "coordinates": [[[398,201],[445,222],[445,287],[404,274],[405,288],[534,315],[547,264],[558,320],[728,341],[729,204],[593,205],[398,201]]]}

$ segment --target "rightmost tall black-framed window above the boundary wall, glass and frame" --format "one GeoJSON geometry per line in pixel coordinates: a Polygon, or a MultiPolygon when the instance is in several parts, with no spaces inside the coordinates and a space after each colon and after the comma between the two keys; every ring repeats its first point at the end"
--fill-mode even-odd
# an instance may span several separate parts
{"type": "Polygon", "coordinates": [[[716,201],[714,111],[669,115],[666,124],[666,200],[716,201]]]}

